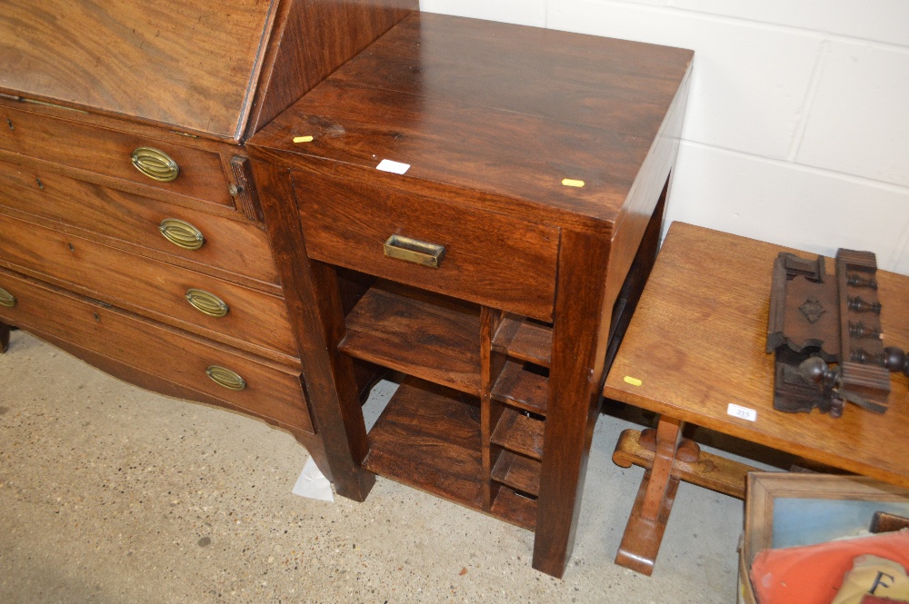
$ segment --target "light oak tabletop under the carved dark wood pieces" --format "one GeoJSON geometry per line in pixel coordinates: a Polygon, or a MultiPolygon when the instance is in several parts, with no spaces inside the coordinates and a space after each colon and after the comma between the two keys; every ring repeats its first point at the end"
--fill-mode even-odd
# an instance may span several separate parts
{"type": "MultiPolygon", "coordinates": [[[[778,252],[813,254],[674,223],[604,388],[606,397],[844,470],[909,486],[909,384],[892,374],[883,415],[773,409],[774,356],[764,352],[778,252]],[[625,377],[641,381],[634,385],[625,377]],[[745,421],[729,403],[757,412],[745,421]]],[[[828,262],[832,268],[833,262],[828,262]]],[[[884,344],[909,348],[909,278],[878,272],[884,344]]]]}

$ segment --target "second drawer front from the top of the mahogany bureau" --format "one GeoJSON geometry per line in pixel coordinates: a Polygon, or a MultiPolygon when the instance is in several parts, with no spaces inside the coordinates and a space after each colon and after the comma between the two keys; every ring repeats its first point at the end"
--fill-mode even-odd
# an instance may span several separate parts
{"type": "Polygon", "coordinates": [[[198,263],[198,271],[205,272],[207,265],[258,281],[278,282],[268,236],[254,223],[7,162],[0,162],[0,205],[172,254],[198,263]],[[179,232],[172,237],[178,243],[166,239],[161,225],[171,219],[186,223],[184,230],[195,229],[201,247],[196,247],[193,237],[180,239],[179,232]]]}

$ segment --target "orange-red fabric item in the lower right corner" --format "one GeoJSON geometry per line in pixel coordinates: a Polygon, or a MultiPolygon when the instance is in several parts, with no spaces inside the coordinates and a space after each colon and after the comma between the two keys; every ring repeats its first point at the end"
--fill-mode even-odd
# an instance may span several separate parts
{"type": "Polygon", "coordinates": [[[761,604],[830,604],[856,556],[873,554],[909,569],[909,530],[758,552],[751,583],[761,604]]]}

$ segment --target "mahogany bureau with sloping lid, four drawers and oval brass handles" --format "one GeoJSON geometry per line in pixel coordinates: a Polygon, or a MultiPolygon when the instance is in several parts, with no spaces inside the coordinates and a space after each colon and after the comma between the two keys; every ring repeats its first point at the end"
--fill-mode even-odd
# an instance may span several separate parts
{"type": "Polygon", "coordinates": [[[305,395],[245,141],[416,2],[0,5],[0,348],[17,326],[349,472],[305,395]]]}

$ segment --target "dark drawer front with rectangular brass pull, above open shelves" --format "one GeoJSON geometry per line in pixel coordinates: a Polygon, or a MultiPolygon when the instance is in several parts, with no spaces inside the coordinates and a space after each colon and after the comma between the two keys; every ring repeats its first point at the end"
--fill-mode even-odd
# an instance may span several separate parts
{"type": "MultiPolygon", "coordinates": [[[[558,229],[380,183],[295,172],[294,186],[306,251],[316,260],[551,320],[558,229]],[[429,251],[414,262],[385,255],[392,235],[441,246],[444,255],[436,267],[418,263],[429,251]]],[[[408,247],[406,239],[395,247],[408,247]]]]}

